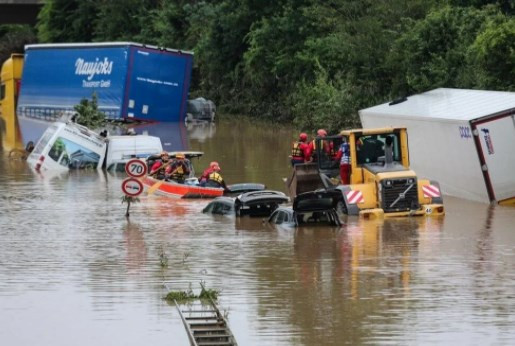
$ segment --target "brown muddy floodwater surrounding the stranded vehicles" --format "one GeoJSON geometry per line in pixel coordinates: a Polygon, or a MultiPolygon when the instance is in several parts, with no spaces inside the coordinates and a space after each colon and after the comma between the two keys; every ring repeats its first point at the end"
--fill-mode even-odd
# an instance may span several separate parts
{"type": "MultiPolygon", "coordinates": [[[[283,190],[293,132],[187,130],[229,183],[283,190]]],[[[275,228],[142,197],[123,176],[0,160],[0,345],[188,345],[171,289],[220,291],[239,345],[515,344],[515,209],[448,197],[443,218],[275,228]],[[162,268],[160,253],[168,258],[162,268]]]]}

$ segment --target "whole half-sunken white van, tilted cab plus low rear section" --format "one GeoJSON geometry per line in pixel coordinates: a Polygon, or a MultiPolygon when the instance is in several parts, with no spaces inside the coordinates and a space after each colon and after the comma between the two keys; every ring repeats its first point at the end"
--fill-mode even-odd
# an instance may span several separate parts
{"type": "Polygon", "coordinates": [[[159,137],[134,135],[104,138],[88,128],[56,122],[46,129],[27,158],[40,170],[101,169],[124,171],[131,158],[146,158],[163,151],[159,137]],[[105,164],[104,164],[105,163],[105,164]]]}

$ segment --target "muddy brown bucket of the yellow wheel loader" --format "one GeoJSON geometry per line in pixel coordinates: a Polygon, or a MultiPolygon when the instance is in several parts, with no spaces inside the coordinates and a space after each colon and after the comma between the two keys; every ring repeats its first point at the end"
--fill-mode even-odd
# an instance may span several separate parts
{"type": "Polygon", "coordinates": [[[286,180],[286,188],[292,200],[300,193],[315,191],[324,187],[326,186],[320,177],[316,163],[295,165],[291,177],[286,180]]]}

